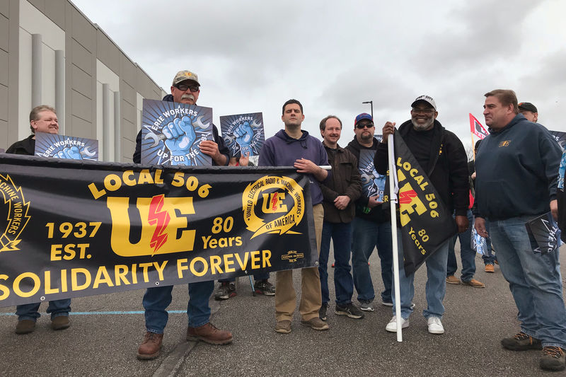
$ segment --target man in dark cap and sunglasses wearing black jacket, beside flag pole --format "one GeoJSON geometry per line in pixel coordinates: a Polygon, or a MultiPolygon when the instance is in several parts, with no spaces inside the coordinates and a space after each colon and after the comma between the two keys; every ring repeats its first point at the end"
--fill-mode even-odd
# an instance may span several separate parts
{"type": "MultiPolygon", "coordinates": [[[[371,115],[362,113],[354,120],[356,136],[346,149],[360,161],[360,152],[375,153],[379,140],[374,137],[375,126],[371,115]]],[[[358,166],[359,168],[367,168],[358,166]]],[[[373,170],[373,169],[372,169],[373,170]]],[[[375,178],[375,177],[374,177],[375,178]]],[[[367,177],[366,179],[374,179],[367,177]]],[[[362,193],[356,202],[356,216],[352,221],[352,269],[354,285],[358,292],[358,301],[362,311],[374,311],[374,284],[371,282],[368,260],[374,248],[381,260],[381,279],[383,292],[381,303],[392,306],[391,281],[393,278],[393,245],[391,242],[391,218],[387,211],[381,209],[382,199],[379,195],[367,197],[362,193]]]]}

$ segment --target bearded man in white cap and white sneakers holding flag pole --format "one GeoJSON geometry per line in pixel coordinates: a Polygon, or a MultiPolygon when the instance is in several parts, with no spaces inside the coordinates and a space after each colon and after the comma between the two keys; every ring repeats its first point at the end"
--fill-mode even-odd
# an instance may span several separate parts
{"type": "MultiPolygon", "coordinates": [[[[427,172],[430,182],[449,211],[455,212],[458,232],[462,233],[469,226],[466,211],[468,211],[470,185],[466,151],[458,137],[437,121],[437,104],[431,97],[421,95],[412,102],[411,107],[411,119],[401,124],[398,132],[395,132],[393,122],[386,122],[383,126],[383,140],[377,148],[374,161],[376,170],[380,174],[385,174],[388,170],[387,139],[388,135],[395,132],[395,137],[403,138],[422,171],[427,172]]],[[[411,301],[415,294],[413,287],[415,274],[405,275],[400,234],[401,229],[398,230],[401,326],[408,327],[409,316],[412,313],[411,301]]],[[[446,241],[442,244],[426,260],[428,307],[423,311],[423,315],[427,318],[428,330],[431,334],[444,334],[441,318],[444,314],[442,301],[446,293],[448,243],[449,241],[446,241]]],[[[393,302],[395,299],[393,295],[393,302]]],[[[386,326],[386,330],[397,331],[395,306],[393,306],[393,318],[386,326]]]]}

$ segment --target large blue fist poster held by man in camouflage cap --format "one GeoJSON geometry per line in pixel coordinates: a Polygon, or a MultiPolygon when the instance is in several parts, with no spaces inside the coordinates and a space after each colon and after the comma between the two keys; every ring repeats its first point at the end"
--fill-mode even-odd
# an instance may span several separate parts
{"type": "Polygon", "coordinates": [[[141,163],[210,166],[200,151],[203,140],[214,141],[212,108],[145,100],[141,115],[141,163]]]}

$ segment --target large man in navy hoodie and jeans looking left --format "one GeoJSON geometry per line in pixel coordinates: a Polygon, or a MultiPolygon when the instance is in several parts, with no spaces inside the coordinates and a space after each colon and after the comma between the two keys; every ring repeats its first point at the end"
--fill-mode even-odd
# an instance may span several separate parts
{"type": "Polygon", "coordinates": [[[542,369],[565,369],[566,308],[558,250],[535,253],[525,224],[550,211],[558,216],[560,146],[541,124],[519,114],[514,91],[485,94],[483,139],[475,158],[475,229],[489,236],[519,309],[521,331],[506,349],[543,349],[542,369]]]}

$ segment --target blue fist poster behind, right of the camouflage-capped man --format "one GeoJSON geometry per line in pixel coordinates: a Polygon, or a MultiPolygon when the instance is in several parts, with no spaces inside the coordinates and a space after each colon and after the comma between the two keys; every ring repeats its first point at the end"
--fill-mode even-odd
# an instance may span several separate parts
{"type": "Polygon", "coordinates": [[[220,129],[230,157],[259,156],[265,141],[261,112],[222,116],[220,129]]]}

